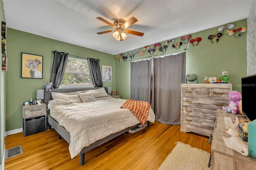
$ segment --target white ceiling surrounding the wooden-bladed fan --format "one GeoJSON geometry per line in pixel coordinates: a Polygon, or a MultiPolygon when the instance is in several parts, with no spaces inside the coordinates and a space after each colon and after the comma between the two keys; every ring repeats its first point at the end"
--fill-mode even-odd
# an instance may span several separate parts
{"type": "MultiPolygon", "coordinates": [[[[254,0],[3,0],[6,26],[110,54],[119,54],[154,43],[186,36],[248,17],[254,0]],[[112,27],[102,17],[138,22],[115,40],[112,27]]],[[[216,30],[217,31],[217,30],[216,30]]],[[[54,50],[54,49],[52,49],[54,50]]],[[[68,52],[68,51],[66,51],[68,52]]]]}

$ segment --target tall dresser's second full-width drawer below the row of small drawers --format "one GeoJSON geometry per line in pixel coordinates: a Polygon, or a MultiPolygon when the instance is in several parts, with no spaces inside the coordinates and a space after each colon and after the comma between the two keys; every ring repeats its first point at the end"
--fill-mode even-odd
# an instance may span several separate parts
{"type": "Polygon", "coordinates": [[[209,119],[209,120],[214,121],[217,111],[211,110],[211,109],[202,109],[202,108],[197,108],[197,107],[184,106],[184,107],[182,107],[181,113],[182,113],[182,117],[189,115],[189,116],[193,116],[193,117],[209,119]]]}

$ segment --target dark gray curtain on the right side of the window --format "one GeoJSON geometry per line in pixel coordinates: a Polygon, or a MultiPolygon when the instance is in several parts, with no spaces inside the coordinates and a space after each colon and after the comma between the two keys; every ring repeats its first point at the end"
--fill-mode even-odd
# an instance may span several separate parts
{"type": "Polygon", "coordinates": [[[102,87],[102,78],[100,73],[100,62],[98,59],[87,58],[89,74],[92,80],[92,84],[94,87],[102,87]]]}

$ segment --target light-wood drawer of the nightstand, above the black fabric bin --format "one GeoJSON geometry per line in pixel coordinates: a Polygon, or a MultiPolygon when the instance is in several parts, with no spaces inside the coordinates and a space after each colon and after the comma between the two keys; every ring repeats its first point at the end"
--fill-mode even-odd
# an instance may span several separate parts
{"type": "Polygon", "coordinates": [[[46,115],[46,106],[28,106],[23,109],[23,117],[28,118],[28,117],[35,117],[35,116],[40,116],[40,115],[46,115]]]}

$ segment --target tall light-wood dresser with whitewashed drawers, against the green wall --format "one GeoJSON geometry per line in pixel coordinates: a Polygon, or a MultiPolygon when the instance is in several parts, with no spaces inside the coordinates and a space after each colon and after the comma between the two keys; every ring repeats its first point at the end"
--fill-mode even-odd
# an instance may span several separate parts
{"type": "Polygon", "coordinates": [[[212,136],[216,111],[228,106],[230,91],[230,83],[181,84],[180,130],[212,136]]]}

